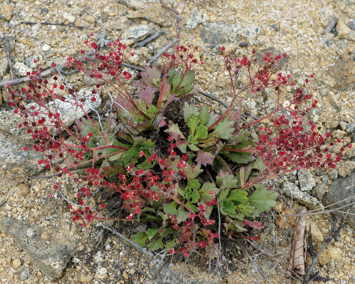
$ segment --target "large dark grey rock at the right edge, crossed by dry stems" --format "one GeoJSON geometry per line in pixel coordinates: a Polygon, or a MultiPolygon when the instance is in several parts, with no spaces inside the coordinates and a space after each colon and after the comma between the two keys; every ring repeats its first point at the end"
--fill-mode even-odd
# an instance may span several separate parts
{"type": "MultiPolygon", "coordinates": [[[[342,201],[353,195],[353,190],[355,186],[353,181],[354,174],[355,172],[353,174],[346,176],[345,178],[338,178],[334,180],[330,186],[328,186],[328,192],[324,194],[322,200],[325,206],[342,201]]],[[[341,206],[345,206],[346,204],[349,204],[353,201],[354,201],[353,199],[348,199],[346,201],[330,206],[328,209],[335,209],[341,206]]],[[[349,209],[349,213],[355,214],[355,205],[351,205],[349,207],[343,208],[342,211],[348,211],[348,209],[349,209]]],[[[341,213],[334,212],[333,214],[337,215],[339,218],[341,217],[341,213]]],[[[349,214],[345,218],[345,222],[355,229],[355,215],[351,215],[351,214],[349,214]]]]}

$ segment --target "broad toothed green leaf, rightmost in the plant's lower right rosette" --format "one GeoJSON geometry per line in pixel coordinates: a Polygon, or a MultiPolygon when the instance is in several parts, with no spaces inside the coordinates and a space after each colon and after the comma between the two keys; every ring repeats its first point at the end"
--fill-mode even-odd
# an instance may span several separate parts
{"type": "Polygon", "coordinates": [[[269,211],[276,205],[275,199],[279,196],[273,190],[267,190],[263,184],[254,185],[255,191],[249,196],[250,205],[256,207],[261,212],[269,211]]]}

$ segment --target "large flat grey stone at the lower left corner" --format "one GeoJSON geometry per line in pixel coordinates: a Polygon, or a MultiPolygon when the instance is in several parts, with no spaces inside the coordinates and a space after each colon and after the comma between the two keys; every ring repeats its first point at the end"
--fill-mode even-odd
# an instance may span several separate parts
{"type": "Polygon", "coordinates": [[[0,228],[7,236],[12,237],[13,241],[27,253],[31,262],[49,280],[61,275],[73,255],[75,248],[73,240],[65,238],[60,240],[52,239],[48,241],[48,244],[47,241],[40,238],[44,230],[37,225],[27,225],[18,222],[14,218],[1,217],[0,228]],[[31,229],[34,234],[28,236],[28,229],[31,229]]]}

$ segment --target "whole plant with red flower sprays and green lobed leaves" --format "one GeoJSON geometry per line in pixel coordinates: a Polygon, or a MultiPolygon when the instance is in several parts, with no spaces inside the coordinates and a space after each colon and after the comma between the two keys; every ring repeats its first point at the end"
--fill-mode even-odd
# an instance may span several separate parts
{"type": "MultiPolygon", "coordinates": [[[[10,104],[24,119],[18,127],[26,128],[35,141],[31,148],[46,157],[39,163],[60,178],[54,189],[60,188],[64,175],[82,185],[78,204],[69,209],[73,220],[84,221],[83,226],[104,219],[100,212],[105,205],[100,204],[93,212],[85,200],[93,190],[107,187],[119,193],[126,220],[144,218],[151,223],[146,232],[132,236],[140,246],[180,252],[185,257],[202,247],[210,256],[218,256],[216,239],[237,237],[247,226],[263,228],[254,219],[275,206],[278,196],[263,181],[295,169],[333,168],[342,157],[343,148],[336,157],[328,153],[326,142],[331,133],[317,134],[314,123],[305,120],[307,111],[317,104],[312,94],[305,93],[313,75],[303,88],[295,90],[286,107],[279,107],[278,102],[265,117],[248,124],[241,121],[241,103],[248,96],[273,88],[279,98],[282,86],[294,85],[288,82],[290,75],[275,69],[286,54],[273,57],[266,53],[257,62],[255,49],[250,59],[240,59],[226,54],[222,47],[232,100],[217,115],[207,105],[199,109],[191,102],[181,103],[195,92],[192,66],[203,64],[194,58],[197,47],[179,45],[175,54],[164,53],[170,62],[162,73],[146,66],[141,81],[134,84],[140,88],[134,96],[126,86],[132,75],[122,65],[134,53],[126,55],[127,47],[119,39],[107,44],[108,52],[99,53],[92,36],[85,41],[90,51],[81,50],[84,60],[69,57],[67,66],[96,80],[90,98],[93,102],[100,94],[98,80],[116,90],[115,116],[93,120],[84,110],[86,100],[78,96],[77,89],[59,85],[56,73],[54,83],[49,84],[39,67],[28,73],[32,82],[27,88],[12,89],[10,104]],[[248,74],[249,83],[237,91],[233,78],[242,70],[248,74]],[[25,100],[37,103],[37,107],[26,107],[25,100]],[[62,121],[58,101],[82,110],[84,115],[74,127],[62,121]],[[307,102],[310,106],[302,107],[307,102]],[[169,113],[169,107],[175,115],[169,113]],[[278,115],[280,111],[286,114],[278,115]],[[271,119],[272,125],[260,127],[260,139],[254,141],[250,126],[265,118],[271,119]],[[65,165],[56,164],[57,158],[65,165]]],[[[252,237],[257,240],[256,235],[252,237]]]]}

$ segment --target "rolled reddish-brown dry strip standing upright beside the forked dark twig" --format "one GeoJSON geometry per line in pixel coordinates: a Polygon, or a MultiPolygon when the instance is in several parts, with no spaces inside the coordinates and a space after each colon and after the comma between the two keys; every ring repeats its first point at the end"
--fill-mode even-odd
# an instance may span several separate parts
{"type": "MultiPolygon", "coordinates": [[[[305,207],[298,209],[298,213],[302,214],[306,212],[305,207]]],[[[290,253],[290,261],[288,264],[288,272],[295,273],[297,275],[305,275],[306,273],[306,216],[299,216],[296,220],[296,227],[292,236],[292,246],[290,253]]],[[[286,278],[290,276],[286,274],[286,278]]]]}

